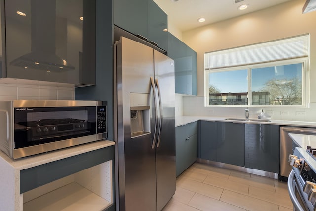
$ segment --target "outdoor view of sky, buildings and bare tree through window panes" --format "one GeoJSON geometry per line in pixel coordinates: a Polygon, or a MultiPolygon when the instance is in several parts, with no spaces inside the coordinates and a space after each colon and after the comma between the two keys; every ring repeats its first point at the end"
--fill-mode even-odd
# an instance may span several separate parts
{"type": "Polygon", "coordinates": [[[209,105],[302,105],[302,72],[302,63],[209,72],[209,105]]]}

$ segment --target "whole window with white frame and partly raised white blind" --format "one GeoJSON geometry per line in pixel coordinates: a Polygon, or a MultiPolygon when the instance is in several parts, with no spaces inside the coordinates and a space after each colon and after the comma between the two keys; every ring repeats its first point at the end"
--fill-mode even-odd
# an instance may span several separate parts
{"type": "Polygon", "coordinates": [[[305,106],[309,36],[205,53],[205,106],[305,106]]]}

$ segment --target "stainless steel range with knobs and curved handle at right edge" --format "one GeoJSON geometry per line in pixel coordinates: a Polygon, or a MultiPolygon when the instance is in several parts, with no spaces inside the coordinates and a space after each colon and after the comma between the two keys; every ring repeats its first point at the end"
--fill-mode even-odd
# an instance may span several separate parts
{"type": "Polygon", "coordinates": [[[316,211],[316,160],[315,152],[296,147],[289,156],[292,171],[287,185],[294,211],[316,211]]]}

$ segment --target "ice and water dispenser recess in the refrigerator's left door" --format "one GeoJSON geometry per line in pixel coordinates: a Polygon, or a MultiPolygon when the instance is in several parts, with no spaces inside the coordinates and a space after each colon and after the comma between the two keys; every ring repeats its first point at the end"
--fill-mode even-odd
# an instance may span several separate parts
{"type": "Polygon", "coordinates": [[[130,93],[131,138],[150,134],[150,94],[130,93]]]}

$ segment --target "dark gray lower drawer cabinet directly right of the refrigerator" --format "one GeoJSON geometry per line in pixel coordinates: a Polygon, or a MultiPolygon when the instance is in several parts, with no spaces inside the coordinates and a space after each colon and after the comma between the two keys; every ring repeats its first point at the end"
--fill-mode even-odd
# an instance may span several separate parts
{"type": "Polygon", "coordinates": [[[176,127],[176,176],[197,160],[197,122],[176,127]]]}

